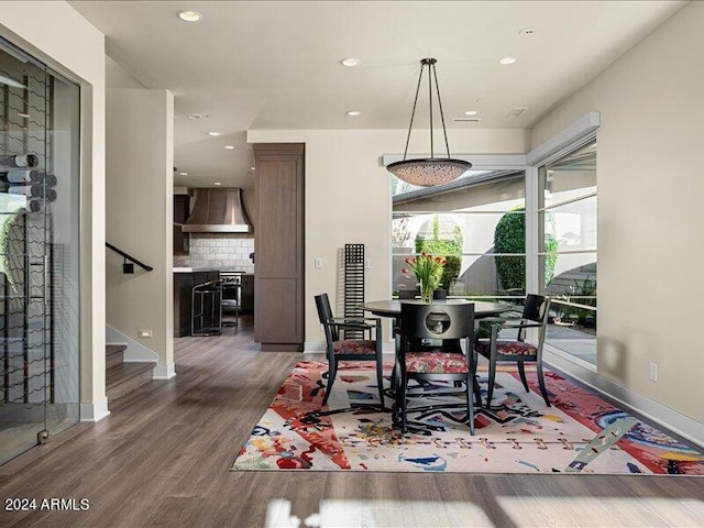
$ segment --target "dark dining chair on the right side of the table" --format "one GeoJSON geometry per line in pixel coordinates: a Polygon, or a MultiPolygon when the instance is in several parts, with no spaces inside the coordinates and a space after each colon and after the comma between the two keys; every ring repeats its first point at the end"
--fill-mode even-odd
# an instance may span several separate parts
{"type": "Polygon", "coordinates": [[[524,365],[528,361],[535,362],[540,393],[542,394],[542,398],[546,400],[546,405],[550,407],[550,399],[548,398],[548,392],[546,391],[546,382],[542,377],[542,345],[546,340],[549,311],[550,297],[529,294],[526,296],[526,302],[524,305],[524,311],[520,319],[485,319],[481,321],[480,328],[484,327],[484,324],[491,324],[491,329],[486,329],[484,327],[483,330],[488,333],[488,338],[483,337],[483,332],[480,331],[477,332],[477,337],[480,339],[474,342],[474,355],[479,353],[488,359],[488,389],[486,394],[487,407],[491,407],[492,404],[496,378],[496,363],[499,361],[513,361],[517,363],[520,381],[522,382],[526,392],[528,392],[528,382],[526,380],[526,370],[524,365]],[[538,329],[537,344],[526,342],[526,330],[529,328],[538,329]],[[498,333],[502,329],[516,329],[516,339],[499,339],[498,333]]]}

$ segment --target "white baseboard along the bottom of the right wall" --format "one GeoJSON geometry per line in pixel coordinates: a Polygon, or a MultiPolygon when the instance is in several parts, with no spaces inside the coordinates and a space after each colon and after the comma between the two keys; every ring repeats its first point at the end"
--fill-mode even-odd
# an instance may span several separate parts
{"type": "Polygon", "coordinates": [[[546,345],[543,350],[543,359],[548,366],[553,366],[569,374],[594,391],[615,399],[625,408],[634,410],[690,442],[704,448],[704,424],[650,399],[642,394],[623,387],[600,375],[594,370],[578,365],[560,354],[550,351],[550,346],[548,345],[546,345]]]}

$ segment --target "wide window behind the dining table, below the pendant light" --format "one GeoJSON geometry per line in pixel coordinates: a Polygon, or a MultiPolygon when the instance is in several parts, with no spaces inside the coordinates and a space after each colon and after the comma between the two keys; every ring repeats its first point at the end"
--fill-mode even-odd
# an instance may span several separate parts
{"type": "Polygon", "coordinates": [[[395,293],[416,288],[416,277],[403,270],[406,258],[427,251],[449,261],[442,285],[449,296],[510,299],[525,295],[522,172],[469,170],[451,184],[430,188],[392,176],[392,194],[395,293]]]}

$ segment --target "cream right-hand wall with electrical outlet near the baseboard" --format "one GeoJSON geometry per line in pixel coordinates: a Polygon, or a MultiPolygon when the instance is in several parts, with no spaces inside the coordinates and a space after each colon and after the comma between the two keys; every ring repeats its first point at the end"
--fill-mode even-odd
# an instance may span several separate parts
{"type": "Polygon", "coordinates": [[[691,2],[534,129],[600,111],[600,375],[704,422],[704,3],[691,2]],[[658,382],[649,380],[658,364],[658,382]]]}

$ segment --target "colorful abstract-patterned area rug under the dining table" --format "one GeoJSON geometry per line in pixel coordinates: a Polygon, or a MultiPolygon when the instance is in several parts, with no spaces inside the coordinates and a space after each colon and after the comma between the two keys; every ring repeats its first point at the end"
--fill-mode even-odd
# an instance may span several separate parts
{"type": "MultiPolygon", "coordinates": [[[[461,396],[444,396],[447,409],[410,410],[402,436],[378,405],[373,364],[343,363],[322,407],[327,370],[296,365],[232,471],[704,474],[704,453],[553,372],[544,374],[552,407],[535,374],[526,393],[508,367],[497,373],[492,408],[476,409],[474,436],[461,396]]],[[[486,373],[479,378],[485,398],[486,373]]]]}

